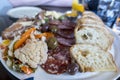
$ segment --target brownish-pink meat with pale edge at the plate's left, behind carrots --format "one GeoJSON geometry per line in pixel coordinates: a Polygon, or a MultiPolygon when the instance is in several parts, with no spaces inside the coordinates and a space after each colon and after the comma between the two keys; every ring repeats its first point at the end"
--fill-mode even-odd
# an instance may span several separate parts
{"type": "Polygon", "coordinates": [[[32,19],[21,18],[2,32],[3,39],[14,39],[14,37],[21,35],[27,28],[33,24],[32,19]]]}

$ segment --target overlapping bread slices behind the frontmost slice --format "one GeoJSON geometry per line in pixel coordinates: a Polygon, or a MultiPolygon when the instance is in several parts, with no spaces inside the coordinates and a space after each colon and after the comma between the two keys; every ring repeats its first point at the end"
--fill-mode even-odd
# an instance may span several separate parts
{"type": "Polygon", "coordinates": [[[77,24],[75,28],[76,43],[97,44],[105,51],[111,49],[114,37],[96,14],[85,11],[77,24]]]}

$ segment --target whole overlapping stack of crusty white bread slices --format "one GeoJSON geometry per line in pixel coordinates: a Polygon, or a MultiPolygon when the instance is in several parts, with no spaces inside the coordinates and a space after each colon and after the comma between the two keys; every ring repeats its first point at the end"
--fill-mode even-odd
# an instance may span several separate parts
{"type": "Polygon", "coordinates": [[[93,12],[85,11],[74,30],[76,44],[70,48],[71,56],[82,72],[117,71],[108,52],[114,37],[102,20],[93,12]]]}

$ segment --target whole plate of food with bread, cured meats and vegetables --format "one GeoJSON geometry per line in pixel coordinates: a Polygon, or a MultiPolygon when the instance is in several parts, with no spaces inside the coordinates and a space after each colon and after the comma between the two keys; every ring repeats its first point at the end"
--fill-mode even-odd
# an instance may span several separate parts
{"type": "Polygon", "coordinates": [[[77,21],[55,11],[20,19],[2,32],[0,60],[18,79],[114,80],[120,42],[93,12],[77,21]]]}

